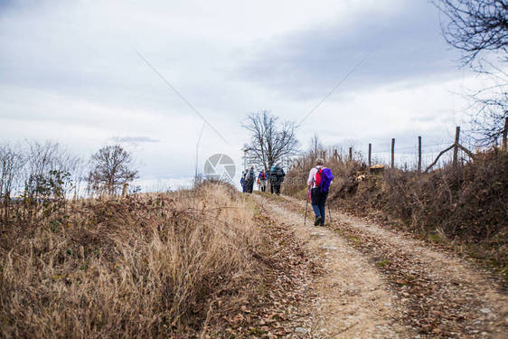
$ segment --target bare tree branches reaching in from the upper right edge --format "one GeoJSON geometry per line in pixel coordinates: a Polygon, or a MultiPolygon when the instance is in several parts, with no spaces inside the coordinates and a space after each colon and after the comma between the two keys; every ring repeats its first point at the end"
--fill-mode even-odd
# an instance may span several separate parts
{"type": "Polygon", "coordinates": [[[462,52],[463,65],[488,74],[492,86],[476,90],[472,100],[472,137],[481,145],[496,143],[508,117],[508,1],[432,0],[446,15],[446,41],[462,52]]]}

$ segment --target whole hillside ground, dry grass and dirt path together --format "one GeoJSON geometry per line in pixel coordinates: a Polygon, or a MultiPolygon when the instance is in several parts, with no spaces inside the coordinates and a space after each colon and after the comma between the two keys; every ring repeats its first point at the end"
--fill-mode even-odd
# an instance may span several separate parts
{"type": "Polygon", "coordinates": [[[3,224],[0,337],[505,338],[508,294],[464,259],[227,184],[3,224]]]}

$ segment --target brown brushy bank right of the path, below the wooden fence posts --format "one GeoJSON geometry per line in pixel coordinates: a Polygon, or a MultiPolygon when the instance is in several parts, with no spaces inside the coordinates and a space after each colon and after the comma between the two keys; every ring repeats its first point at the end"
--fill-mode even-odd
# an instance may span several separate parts
{"type": "MultiPolygon", "coordinates": [[[[474,162],[430,174],[399,169],[368,174],[362,162],[334,159],[326,165],[335,176],[332,206],[390,221],[481,259],[508,278],[508,153],[476,153],[474,162]]],[[[308,169],[287,175],[287,193],[305,199],[308,169]]]]}

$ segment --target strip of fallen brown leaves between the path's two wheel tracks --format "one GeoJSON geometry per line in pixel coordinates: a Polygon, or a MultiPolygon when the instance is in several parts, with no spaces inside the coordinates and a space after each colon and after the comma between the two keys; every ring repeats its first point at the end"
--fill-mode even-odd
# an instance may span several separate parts
{"type": "Polygon", "coordinates": [[[414,252],[347,223],[334,223],[333,227],[344,239],[355,239],[350,244],[377,263],[399,296],[401,321],[432,337],[473,337],[466,325],[473,320],[472,306],[479,305],[474,294],[467,294],[456,281],[437,275],[432,264],[414,252]]]}

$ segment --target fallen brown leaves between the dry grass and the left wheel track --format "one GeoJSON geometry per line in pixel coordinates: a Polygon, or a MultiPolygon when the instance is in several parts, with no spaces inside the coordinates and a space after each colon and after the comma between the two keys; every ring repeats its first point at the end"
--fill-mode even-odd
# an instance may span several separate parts
{"type": "Polygon", "coordinates": [[[295,328],[305,326],[302,322],[309,314],[310,301],[304,292],[320,267],[303,250],[290,225],[278,224],[262,206],[259,208],[255,220],[265,234],[252,257],[257,260],[260,281],[250,286],[255,288],[251,299],[240,300],[229,308],[228,299],[217,303],[220,321],[215,327],[230,338],[306,337],[304,333],[295,334],[295,328]]]}

